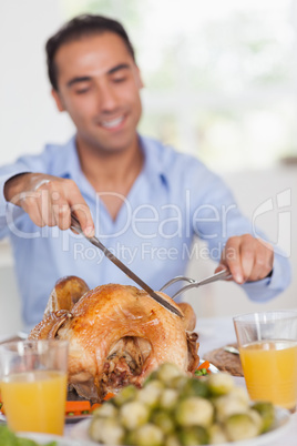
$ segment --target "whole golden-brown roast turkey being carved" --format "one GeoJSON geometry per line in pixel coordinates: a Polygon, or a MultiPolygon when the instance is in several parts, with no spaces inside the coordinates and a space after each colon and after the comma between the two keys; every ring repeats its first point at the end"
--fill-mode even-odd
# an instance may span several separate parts
{"type": "Polygon", "coordinates": [[[199,361],[194,311],[160,294],[184,317],[134,286],[109,284],[89,291],[81,278],[64,277],[29,338],[69,341],[69,383],[93,402],[127,384],[141,386],[162,363],[194,372],[199,361]]]}

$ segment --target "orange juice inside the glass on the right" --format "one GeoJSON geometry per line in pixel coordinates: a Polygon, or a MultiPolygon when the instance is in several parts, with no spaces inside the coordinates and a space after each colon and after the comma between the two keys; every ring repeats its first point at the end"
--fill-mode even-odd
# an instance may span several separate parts
{"type": "Polygon", "coordinates": [[[297,402],[297,342],[263,341],[239,347],[248,394],[291,409],[297,402]]]}

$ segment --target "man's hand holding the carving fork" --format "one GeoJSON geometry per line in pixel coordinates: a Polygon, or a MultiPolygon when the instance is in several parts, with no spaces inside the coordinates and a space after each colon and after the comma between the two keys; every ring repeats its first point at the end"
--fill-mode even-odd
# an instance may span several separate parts
{"type": "Polygon", "coordinates": [[[239,284],[266,277],[274,266],[274,249],[250,234],[228,239],[216,272],[229,270],[239,284]]]}

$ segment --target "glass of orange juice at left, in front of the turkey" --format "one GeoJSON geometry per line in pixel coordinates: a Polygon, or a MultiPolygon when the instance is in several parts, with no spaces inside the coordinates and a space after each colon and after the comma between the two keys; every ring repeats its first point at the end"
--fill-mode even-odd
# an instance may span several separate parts
{"type": "Polygon", "coordinates": [[[68,343],[9,342],[0,346],[0,388],[14,432],[63,435],[68,343]]]}

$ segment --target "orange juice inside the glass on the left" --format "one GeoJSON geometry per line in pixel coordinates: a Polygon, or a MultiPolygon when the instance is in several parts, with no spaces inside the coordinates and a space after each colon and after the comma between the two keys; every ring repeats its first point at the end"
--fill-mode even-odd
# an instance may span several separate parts
{"type": "Polygon", "coordinates": [[[65,373],[33,371],[11,374],[2,379],[1,394],[12,430],[63,435],[65,373]]]}

